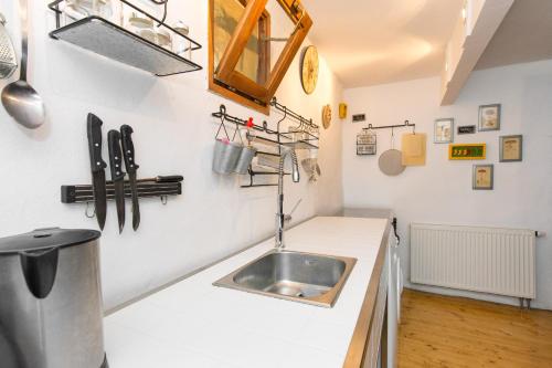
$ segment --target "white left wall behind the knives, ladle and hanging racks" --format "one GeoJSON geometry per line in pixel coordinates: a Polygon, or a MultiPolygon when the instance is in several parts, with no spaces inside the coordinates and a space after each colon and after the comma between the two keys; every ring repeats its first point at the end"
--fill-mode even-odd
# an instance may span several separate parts
{"type": "MultiPolygon", "coordinates": [[[[19,34],[15,1],[0,0],[8,28],[19,34]]],[[[85,217],[85,206],[60,202],[60,186],[88,183],[86,115],[104,120],[104,136],[112,128],[129,124],[135,128],[139,177],[184,176],[183,196],[140,202],[141,224],[132,232],[130,207],[121,235],[116,211],[108,207],[102,236],[103,285],[106,307],[137,295],[269,236],[274,231],[276,189],[240,189],[237,178],[211,170],[217,125],[211,113],[224,103],[230,114],[266,116],[206,91],[205,70],[166,78],[151,76],[47,36],[53,17],[47,1],[32,0],[30,81],[43,96],[46,124],[35,132],[18,126],[0,108],[0,235],[35,228],[97,229],[85,217]]],[[[183,20],[191,36],[203,48],[194,61],[206,69],[208,1],[171,1],[170,21],[183,20]]],[[[273,13],[273,22],[282,21],[273,13]]],[[[19,42],[18,40],[15,40],[19,42]]],[[[308,44],[308,41],[306,42],[308,44]]],[[[307,96],[299,80],[296,57],[277,97],[280,103],[320,123],[321,107],[337,112],[341,86],[323,61],[316,92],[307,96]]],[[[1,81],[0,87],[6,84],[1,81]]],[[[268,124],[276,124],[273,113],[268,124]]],[[[338,119],[321,132],[319,160],[322,178],[315,185],[301,171],[300,183],[286,179],[286,210],[304,201],[294,222],[315,214],[337,212],[342,206],[341,129],[338,119]]],[[[104,147],[105,148],[105,147],[104,147]]],[[[104,149],[107,160],[107,149],[104,149]]],[[[301,151],[300,157],[308,153],[301,151]]]]}

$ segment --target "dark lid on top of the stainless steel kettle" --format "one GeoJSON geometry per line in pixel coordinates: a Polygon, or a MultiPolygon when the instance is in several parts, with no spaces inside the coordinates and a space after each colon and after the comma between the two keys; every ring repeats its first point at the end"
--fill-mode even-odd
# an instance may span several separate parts
{"type": "Polygon", "coordinates": [[[0,255],[79,245],[98,239],[96,230],[36,229],[21,235],[0,239],[0,255]]]}

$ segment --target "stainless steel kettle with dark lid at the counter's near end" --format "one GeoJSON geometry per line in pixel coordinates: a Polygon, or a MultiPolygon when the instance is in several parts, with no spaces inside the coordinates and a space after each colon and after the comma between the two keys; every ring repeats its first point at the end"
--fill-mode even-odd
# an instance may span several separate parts
{"type": "Polygon", "coordinates": [[[107,368],[99,236],[52,228],[0,239],[2,368],[107,368]]]}

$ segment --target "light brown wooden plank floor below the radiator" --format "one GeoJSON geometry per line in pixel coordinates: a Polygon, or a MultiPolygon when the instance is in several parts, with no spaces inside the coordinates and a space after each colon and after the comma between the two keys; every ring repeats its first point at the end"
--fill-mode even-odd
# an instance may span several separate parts
{"type": "Polygon", "coordinates": [[[405,290],[399,368],[552,368],[552,312],[405,290]]]}

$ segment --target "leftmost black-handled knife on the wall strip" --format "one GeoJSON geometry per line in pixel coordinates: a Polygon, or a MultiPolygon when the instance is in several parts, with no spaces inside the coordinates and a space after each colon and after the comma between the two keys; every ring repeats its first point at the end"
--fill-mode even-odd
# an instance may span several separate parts
{"type": "Polygon", "coordinates": [[[94,204],[99,229],[104,230],[107,212],[107,196],[105,182],[106,162],[102,159],[102,120],[94,114],[88,114],[86,122],[88,150],[91,154],[92,187],[94,204]]]}

